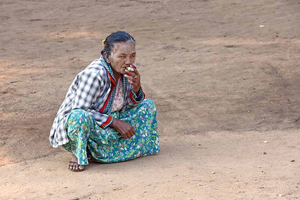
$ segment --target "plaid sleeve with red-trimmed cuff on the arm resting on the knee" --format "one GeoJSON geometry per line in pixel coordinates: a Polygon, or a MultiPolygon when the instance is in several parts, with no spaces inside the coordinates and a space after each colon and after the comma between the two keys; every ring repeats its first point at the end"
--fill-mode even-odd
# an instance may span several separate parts
{"type": "Polygon", "coordinates": [[[73,99],[72,110],[83,109],[88,115],[96,120],[101,128],[106,128],[113,119],[109,115],[100,113],[91,109],[98,97],[101,96],[104,89],[104,82],[101,76],[96,72],[82,73],[77,90],[73,99]]]}

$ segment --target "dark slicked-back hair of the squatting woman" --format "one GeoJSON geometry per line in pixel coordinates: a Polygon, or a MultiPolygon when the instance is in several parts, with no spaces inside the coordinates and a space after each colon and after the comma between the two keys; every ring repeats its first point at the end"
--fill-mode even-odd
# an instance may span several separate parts
{"type": "Polygon", "coordinates": [[[127,42],[130,40],[135,43],[134,38],[130,34],[126,33],[125,31],[113,32],[105,39],[104,49],[101,51],[101,55],[104,56],[104,52],[110,55],[116,42],[127,42]]]}

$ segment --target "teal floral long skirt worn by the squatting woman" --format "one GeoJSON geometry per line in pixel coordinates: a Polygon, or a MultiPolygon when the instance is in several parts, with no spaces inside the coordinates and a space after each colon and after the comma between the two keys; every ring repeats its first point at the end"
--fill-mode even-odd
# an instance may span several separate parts
{"type": "Polygon", "coordinates": [[[152,100],[146,99],[125,112],[113,112],[135,128],[135,135],[124,139],[114,128],[102,129],[82,109],[73,110],[65,120],[69,142],[64,149],[78,158],[79,165],[88,165],[88,157],[100,163],[115,163],[160,152],[157,112],[152,100]]]}

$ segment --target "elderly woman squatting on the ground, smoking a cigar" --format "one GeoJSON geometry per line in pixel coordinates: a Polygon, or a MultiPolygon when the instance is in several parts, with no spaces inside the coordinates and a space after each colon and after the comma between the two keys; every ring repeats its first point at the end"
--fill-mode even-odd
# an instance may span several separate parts
{"type": "Polygon", "coordinates": [[[144,100],[134,38],[116,31],[103,45],[101,58],[75,77],[50,131],[51,145],[72,154],[74,172],[85,169],[88,157],[114,163],[160,151],[156,107],[144,100]]]}

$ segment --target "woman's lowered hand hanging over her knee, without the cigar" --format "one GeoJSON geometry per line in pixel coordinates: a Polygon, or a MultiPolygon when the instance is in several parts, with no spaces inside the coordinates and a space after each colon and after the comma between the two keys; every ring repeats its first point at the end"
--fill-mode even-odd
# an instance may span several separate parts
{"type": "Polygon", "coordinates": [[[135,134],[133,126],[117,118],[113,118],[109,126],[116,129],[125,139],[131,138],[135,134]]]}

